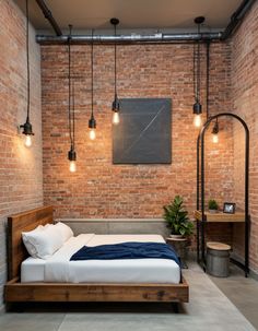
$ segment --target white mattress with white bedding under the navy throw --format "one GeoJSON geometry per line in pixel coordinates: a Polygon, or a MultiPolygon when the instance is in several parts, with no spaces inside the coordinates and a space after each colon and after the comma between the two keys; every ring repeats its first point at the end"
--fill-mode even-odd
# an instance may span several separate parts
{"type": "Polygon", "coordinates": [[[28,258],[22,263],[22,282],[71,283],[173,283],[180,281],[179,265],[168,259],[70,261],[84,245],[125,241],[165,243],[159,235],[94,235],[70,238],[47,260],[28,258]]]}

